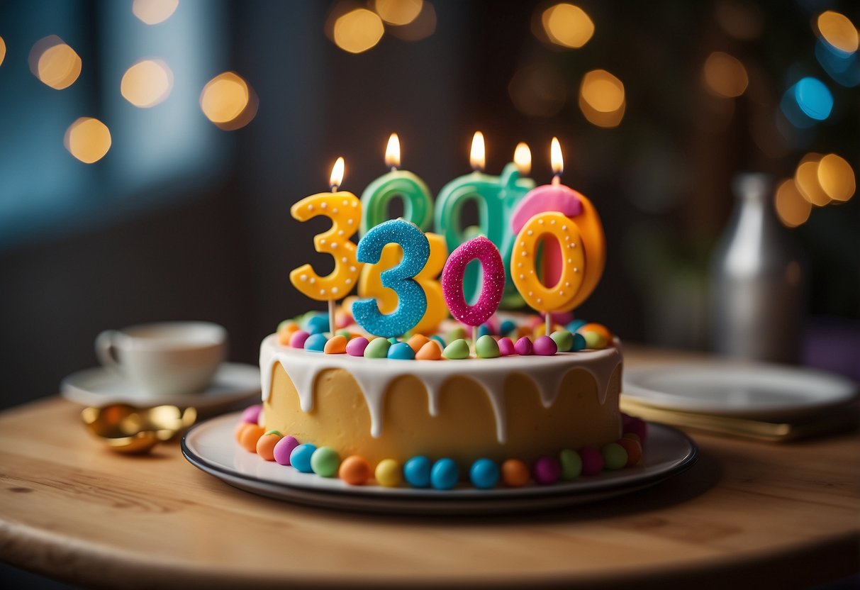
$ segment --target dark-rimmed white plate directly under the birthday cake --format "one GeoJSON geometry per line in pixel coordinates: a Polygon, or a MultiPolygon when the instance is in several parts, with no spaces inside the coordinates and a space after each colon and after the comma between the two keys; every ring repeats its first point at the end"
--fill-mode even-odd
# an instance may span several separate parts
{"type": "Polygon", "coordinates": [[[498,513],[603,500],[654,485],[687,470],[698,456],[696,445],[684,433],[649,424],[642,464],[573,482],[489,490],[463,485],[447,491],[350,486],[340,479],[300,473],[245,451],[233,438],[239,416],[218,416],[192,427],[182,438],[185,458],[206,473],[255,494],[365,512],[498,513]]]}

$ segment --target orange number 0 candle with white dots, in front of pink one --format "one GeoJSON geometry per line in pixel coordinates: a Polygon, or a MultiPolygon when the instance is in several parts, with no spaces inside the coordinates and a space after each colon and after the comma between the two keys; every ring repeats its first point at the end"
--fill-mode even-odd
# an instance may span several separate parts
{"type": "MultiPolygon", "coordinates": [[[[554,244],[544,243],[544,248],[553,246],[554,244]]],[[[585,253],[582,250],[580,231],[564,214],[538,213],[519,230],[513,244],[511,277],[525,303],[533,309],[544,313],[574,309],[584,270],[585,253]],[[544,286],[537,276],[537,244],[544,236],[556,238],[562,251],[562,268],[556,285],[544,286]]]]}

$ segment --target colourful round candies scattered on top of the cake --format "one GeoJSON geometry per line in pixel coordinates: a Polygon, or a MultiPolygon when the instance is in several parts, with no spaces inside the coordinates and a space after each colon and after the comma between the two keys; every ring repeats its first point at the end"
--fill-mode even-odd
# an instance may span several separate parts
{"type": "MultiPolygon", "coordinates": [[[[316,324],[318,326],[320,323],[316,324]]],[[[328,320],[325,320],[325,325],[328,325],[328,320]]],[[[574,328],[574,331],[556,329],[549,336],[537,335],[534,341],[527,335],[520,336],[514,342],[505,335],[479,333],[474,353],[478,359],[495,359],[513,354],[552,356],[556,353],[575,352],[586,348],[605,348],[612,341],[609,330],[599,323],[585,323],[577,320],[568,324],[568,327],[574,328]]],[[[315,328],[320,329],[316,326],[315,328]]],[[[509,330],[511,331],[513,330],[509,330]]],[[[450,344],[445,344],[445,339],[439,335],[427,337],[415,334],[408,340],[401,341],[396,338],[364,336],[346,329],[329,337],[322,329],[310,333],[300,329],[298,323],[292,321],[281,323],[277,334],[278,341],[283,346],[314,353],[348,354],[368,359],[463,360],[471,358],[473,352],[469,341],[465,338],[465,330],[462,328],[451,330],[447,334],[450,344]]]]}

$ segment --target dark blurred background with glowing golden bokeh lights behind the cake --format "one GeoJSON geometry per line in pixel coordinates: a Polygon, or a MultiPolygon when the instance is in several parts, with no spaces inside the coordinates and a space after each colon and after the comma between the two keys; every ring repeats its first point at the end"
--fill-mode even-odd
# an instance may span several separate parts
{"type": "Polygon", "coordinates": [[[753,257],[784,262],[794,360],[860,377],[858,22],[833,0],[0,3],[0,403],[55,394],[133,323],[222,323],[255,363],[324,305],[288,273],[330,269],[327,222],[289,207],[338,156],[360,194],[390,132],[433,193],[476,130],[490,174],[530,144],[538,184],[560,138],[608,241],[578,315],[667,347],[727,352],[733,181],[766,173],[778,238],[753,257]]]}

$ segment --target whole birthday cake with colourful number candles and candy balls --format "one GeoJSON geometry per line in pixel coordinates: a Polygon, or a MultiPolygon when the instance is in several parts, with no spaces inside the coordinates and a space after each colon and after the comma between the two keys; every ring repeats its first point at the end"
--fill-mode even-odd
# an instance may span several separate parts
{"type": "Polygon", "coordinates": [[[512,230],[482,227],[493,240],[425,234],[426,187],[400,171],[360,201],[333,190],[292,206],[299,220],[332,219],[315,243],[335,270],[291,273],[329,314],[287,320],[262,341],[263,403],[237,425],[241,446],[347,484],[435,489],[550,484],[640,461],[645,425],[618,409],[620,343],[569,313],[602,272],[599,218],[581,194],[557,181],[533,188],[512,166],[501,180],[476,172],[452,181],[436,202],[439,222],[462,205],[458,194],[501,187],[490,193],[513,200],[512,230]],[[416,223],[368,222],[380,210],[373,198],[384,210],[395,193],[416,223]],[[410,194],[419,195],[411,204],[410,194]],[[356,245],[348,238],[359,220],[356,245]],[[359,298],[335,307],[356,285],[359,298]],[[510,296],[541,315],[497,311],[510,296]],[[449,312],[454,320],[442,320],[449,312]]]}

